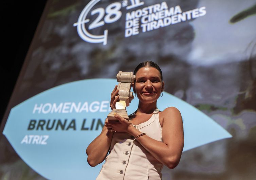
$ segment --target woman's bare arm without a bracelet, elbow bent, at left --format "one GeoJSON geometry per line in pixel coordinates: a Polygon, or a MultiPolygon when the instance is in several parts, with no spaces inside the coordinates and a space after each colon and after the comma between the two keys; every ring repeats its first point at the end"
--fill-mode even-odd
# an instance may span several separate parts
{"type": "Polygon", "coordinates": [[[104,126],[102,132],[87,147],[87,162],[90,166],[94,167],[104,161],[108,154],[112,137],[113,133],[108,132],[107,127],[104,126]]]}

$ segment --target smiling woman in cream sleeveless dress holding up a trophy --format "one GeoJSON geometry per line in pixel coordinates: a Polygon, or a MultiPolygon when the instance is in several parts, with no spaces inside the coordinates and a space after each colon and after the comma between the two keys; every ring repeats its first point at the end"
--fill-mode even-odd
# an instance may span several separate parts
{"type": "MultiPolygon", "coordinates": [[[[139,99],[138,109],[129,121],[118,114],[114,115],[118,122],[106,119],[102,132],[86,150],[91,166],[106,159],[98,180],[157,180],[161,179],[163,164],[173,169],[180,161],[184,144],[180,111],[175,107],[162,112],[157,109],[157,100],[164,90],[161,69],[156,63],[145,61],[135,68],[134,74],[132,87],[139,99]]],[[[112,109],[119,97],[116,89],[117,86],[111,93],[112,109]]]]}

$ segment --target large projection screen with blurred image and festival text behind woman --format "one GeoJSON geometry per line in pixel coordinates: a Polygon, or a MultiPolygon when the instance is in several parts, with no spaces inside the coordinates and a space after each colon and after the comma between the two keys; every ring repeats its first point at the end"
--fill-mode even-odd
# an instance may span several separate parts
{"type": "Polygon", "coordinates": [[[49,0],[1,124],[1,179],[95,179],[85,150],[115,76],[145,60],[163,71],[158,108],[184,123],[163,180],[255,178],[255,14],[254,0],[49,0]]]}

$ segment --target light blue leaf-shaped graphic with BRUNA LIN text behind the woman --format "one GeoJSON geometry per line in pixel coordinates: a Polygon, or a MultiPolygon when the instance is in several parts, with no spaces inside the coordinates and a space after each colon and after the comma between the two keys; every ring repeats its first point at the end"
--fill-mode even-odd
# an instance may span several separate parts
{"type": "MultiPolygon", "coordinates": [[[[95,179],[85,150],[101,132],[110,112],[115,79],[89,79],[63,84],[12,108],[3,134],[19,156],[47,179],[95,179]]],[[[231,137],[221,126],[188,103],[164,93],[158,107],[177,107],[184,122],[184,151],[231,137]]],[[[138,106],[135,98],[127,108],[138,106]]]]}

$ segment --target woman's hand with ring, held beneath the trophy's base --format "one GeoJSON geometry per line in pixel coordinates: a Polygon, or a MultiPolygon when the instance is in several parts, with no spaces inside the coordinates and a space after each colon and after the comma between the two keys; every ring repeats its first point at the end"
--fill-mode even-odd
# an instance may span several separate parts
{"type": "Polygon", "coordinates": [[[126,132],[129,133],[131,128],[134,128],[132,126],[131,121],[128,121],[124,118],[122,118],[119,114],[114,113],[114,117],[118,121],[108,121],[106,119],[105,126],[108,128],[109,132],[126,132]]]}

